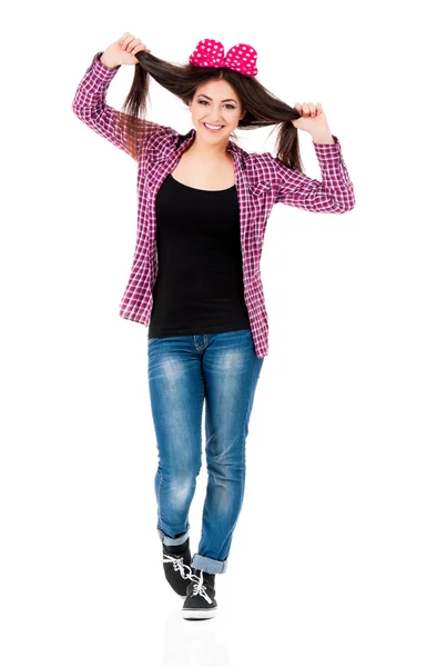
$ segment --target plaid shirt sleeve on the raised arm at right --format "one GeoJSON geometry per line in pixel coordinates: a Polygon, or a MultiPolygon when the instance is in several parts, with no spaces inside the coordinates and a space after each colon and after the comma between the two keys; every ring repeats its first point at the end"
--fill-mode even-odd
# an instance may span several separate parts
{"type": "Polygon", "coordinates": [[[276,175],[274,203],[285,203],[317,213],[344,213],[355,207],[354,186],[345,166],[338,138],[335,143],[315,143],[314,150],[321,166],[322,180],[309,178],[286,167],[271,153],[276,175]]]}

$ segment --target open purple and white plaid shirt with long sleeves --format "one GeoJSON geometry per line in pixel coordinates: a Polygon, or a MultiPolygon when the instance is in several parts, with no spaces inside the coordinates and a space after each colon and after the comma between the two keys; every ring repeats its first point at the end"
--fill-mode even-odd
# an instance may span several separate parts
{"type": "MultiPolygon", "coordinates": [[[[92,130],[121,148],[129,149],[118,130],[120,111],[105,103],[106,90],[120,66],[109,69],[99,51],[78,86],[73,112],[92,130]]],[[[268,354],[268,318],[265,309],[260,260],[268,217],[275,203],[316,213],[345,213],[355,206],[353,183],[335,143],[315,143],[322,181],[285,167],[270,152],[250,153],[228,142],[234,160],[241,215],[241,248],[244,297],[257,357],[268,354]]],[[[125,135],[124,135],[125,138],[125,135]]],[[[157,276],[155,197],[163,182],[195,138],[195,130],[180,135],[171,127],[140,119],[138,132],[138,231],[130,278],[119,315],[146,327],[153,306],[152,289],[157,276]]]]}

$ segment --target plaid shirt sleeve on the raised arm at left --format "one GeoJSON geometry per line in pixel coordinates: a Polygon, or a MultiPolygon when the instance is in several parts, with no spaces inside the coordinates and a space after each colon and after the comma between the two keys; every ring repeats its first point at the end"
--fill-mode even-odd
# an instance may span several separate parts
{"type": "MultiPolygon", "coordinates": [[[[82,122],[98,135],[131,155],[130,147],[126,145],[126,129],[125,127],[121,129],[118,125],[123,113],[105,102],[106,90],[121,66],[114,69],[108,68],[100,60],[102,53],[103,51],[95,53],[83,79],[80,81],[72,102],[72,110],[82,122]]],[[[150,120],[138,119],[138,157],[141,157],[142,149],[150,137],[170,129],[172,128],[165,128],[150,120]]]]}

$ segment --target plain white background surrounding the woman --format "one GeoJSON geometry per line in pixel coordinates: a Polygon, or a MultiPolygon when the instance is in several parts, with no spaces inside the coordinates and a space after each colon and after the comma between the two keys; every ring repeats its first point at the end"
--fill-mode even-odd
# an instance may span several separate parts
{"type": "MultiPolygon", "coordinates": [[[[6,17],[2,667],[425,667],[425,53],[415,3],[394,7],[74,0],[6,17]],[[322,102],[355,187],[345,215],[277,205],[268,220],[270,352],[218,615],[202,624],[164,579],[148,330],[119,317],[136,165],[71,110],[125,31],[177,63],[203,38],[254,46],[268,90],[322,102]]],[[[150,99],[149,119],[191,129],[153,80],[150,99]]],[[[272,129],[240,145],[273,151],[272,129]]],[[[203,467],[192,551],[205,485],[203,467]]]]}

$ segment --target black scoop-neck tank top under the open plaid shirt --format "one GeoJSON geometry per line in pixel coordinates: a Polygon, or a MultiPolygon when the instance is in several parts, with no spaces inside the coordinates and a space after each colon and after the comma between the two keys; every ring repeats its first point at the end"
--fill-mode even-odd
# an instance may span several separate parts
{"type": "Polygon", "coordinates": [[[250,329],[236,187],[200,190],[170,173],[155,215],[159,271],[149,338],[250,329]]]}

